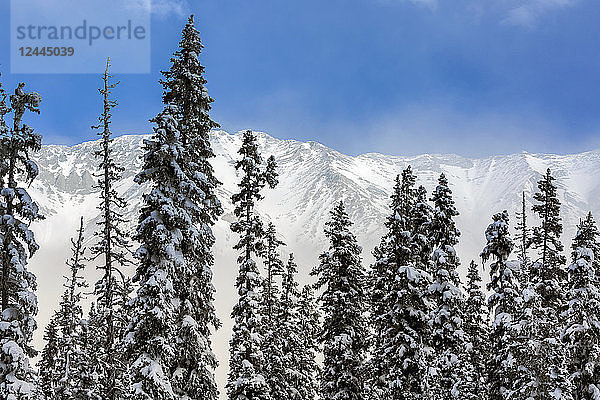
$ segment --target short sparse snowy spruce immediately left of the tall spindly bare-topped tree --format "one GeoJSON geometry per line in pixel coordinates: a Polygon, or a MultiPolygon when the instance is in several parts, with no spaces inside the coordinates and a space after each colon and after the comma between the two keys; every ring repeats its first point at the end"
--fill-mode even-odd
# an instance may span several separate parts
{"type": "Polygon", "coordinates": [[[85,399],[80,377],[87,368],[82,343],[82,289],[87,283],[80,275],[84,269],[83,217],[77,239],[71,239],[72,256],[67,260],[70,275],[66,277],[65,292],[59,308],[46,327],[46,346],[38,364],[42,391],[47,399],[85,399]]]}

